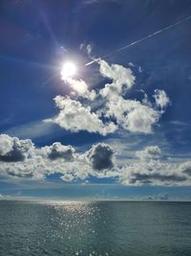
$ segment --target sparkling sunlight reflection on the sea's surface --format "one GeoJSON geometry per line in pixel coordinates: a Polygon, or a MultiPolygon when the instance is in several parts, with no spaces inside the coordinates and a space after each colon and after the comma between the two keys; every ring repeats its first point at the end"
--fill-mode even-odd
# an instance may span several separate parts
{"type": "MultiPolygon", "coordinates": [[[[71,247],[77,248],[73,255],[84,255],[87,244],[97,239],[96,222],[99,220],[99,209],[93,202],[54,201],[48,204],[53,210],[53,239],[59,239],[71,247]]],[[[65,247],[65,250],[67,248],[65,247]]],[[[97,255],[93,248],[90,254],[97,255]]]]}

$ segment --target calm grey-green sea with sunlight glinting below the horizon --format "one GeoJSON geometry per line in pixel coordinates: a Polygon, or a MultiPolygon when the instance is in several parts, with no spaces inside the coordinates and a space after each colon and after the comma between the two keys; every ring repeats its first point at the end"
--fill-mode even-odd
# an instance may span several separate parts
{"type": "Polygon", "coordinates": [[[0,255],[191,255],[189,202],[0,201],[0,255]]]}

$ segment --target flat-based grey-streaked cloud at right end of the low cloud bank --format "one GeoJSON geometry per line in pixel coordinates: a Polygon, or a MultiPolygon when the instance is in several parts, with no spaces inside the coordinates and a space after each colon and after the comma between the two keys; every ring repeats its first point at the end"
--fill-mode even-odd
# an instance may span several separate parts
{"type": "Polygon", "coordinates": [[[120,170],[120,180],[125,185],[189,185],[191,179],[186,172],[190,163],[174,163],[162,161],[158,146],[149,146],[137,151],[138,159],[123,166],[120,170]]]}

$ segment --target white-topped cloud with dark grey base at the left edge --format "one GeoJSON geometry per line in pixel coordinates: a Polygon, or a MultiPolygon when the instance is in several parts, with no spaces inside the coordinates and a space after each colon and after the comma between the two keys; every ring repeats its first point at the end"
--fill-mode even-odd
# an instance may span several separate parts
{"type": "Polygon", "coordinates": [[[6,134],[0,135],[0,161],[24,161],[32,150],[31,140],[19,140],[6,134]]]}

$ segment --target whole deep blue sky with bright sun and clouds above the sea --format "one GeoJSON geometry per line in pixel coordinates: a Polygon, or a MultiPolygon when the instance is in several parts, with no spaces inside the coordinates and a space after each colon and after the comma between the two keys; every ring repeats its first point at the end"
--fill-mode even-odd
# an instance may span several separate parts
{"type": "Polygon", "coordinates": [[[189,0],[2,0],[0,198],[190,200],[190,15],[189,0]]]}

